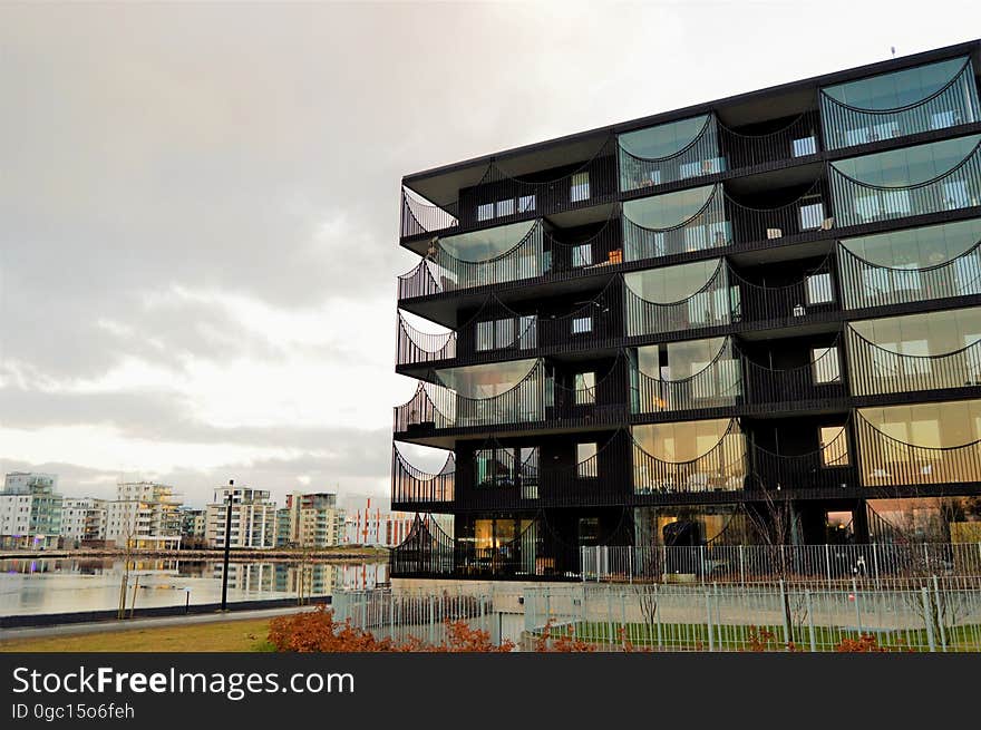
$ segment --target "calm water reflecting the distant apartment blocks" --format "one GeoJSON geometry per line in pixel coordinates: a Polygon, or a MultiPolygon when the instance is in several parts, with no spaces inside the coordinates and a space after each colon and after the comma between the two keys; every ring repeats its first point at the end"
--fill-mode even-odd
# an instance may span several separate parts
{"type": "MultiPolygon", "coordinates": [[[[388,565],[314,563],[305,566],[304,593],[331,595],[341,587],[373,587],[388,581],[388,565]]],[[[139,576],[136,612],[222,600],[221,561],[137,561],[129,571],[127,610],[139,576]]],[[[293,563],[229,565],[229,602],[297,596],[300,568],[293,563]]],[[[0,561],[0,615],[116,610],[123,562],[101,558],[0,561]]]]}

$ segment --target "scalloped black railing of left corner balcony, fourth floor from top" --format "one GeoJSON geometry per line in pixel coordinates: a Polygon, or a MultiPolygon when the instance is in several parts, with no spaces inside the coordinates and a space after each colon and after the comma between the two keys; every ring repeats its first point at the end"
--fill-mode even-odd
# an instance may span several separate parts
{"type": "Polygon", "coordinates": [[[420,382],[416,395],[395,408],[394,430],[421,435],[453,428],[543,421],[545,386],[542,360],[511,389],[489,398],[466,398],[444,386],[420,382]]]}

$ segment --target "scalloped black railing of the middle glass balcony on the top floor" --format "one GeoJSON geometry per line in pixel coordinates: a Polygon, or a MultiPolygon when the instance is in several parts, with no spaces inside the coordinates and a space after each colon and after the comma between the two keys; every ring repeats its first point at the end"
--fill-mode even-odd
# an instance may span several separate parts
{"type": "Polygon", "coordinates": [[[712,114],[706,115],[705,125],[695,138],[671,155],[644,158],[629,153],[622,144],[618,148],[620,191],[623,193],[715,175],[726,169],[726,160],[719,154],[718,128],[712,114]]]}

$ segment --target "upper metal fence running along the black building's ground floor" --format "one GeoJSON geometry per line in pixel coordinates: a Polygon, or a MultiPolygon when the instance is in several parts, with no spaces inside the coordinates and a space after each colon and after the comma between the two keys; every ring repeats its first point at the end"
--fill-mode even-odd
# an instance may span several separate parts
{"type": "Polygon", "coordinates": [[[981,576],[981,543],[581,548],[584,582],[747,583],[981,576]]]}

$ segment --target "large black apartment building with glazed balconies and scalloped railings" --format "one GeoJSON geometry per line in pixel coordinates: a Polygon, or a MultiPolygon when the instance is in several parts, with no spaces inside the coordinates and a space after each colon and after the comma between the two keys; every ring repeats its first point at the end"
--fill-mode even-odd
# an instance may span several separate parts
{"type": "Polygon", "coordinates": [[[972,41],[405,177],[392,577],[978,541],[979,71],[972,41]]]}

